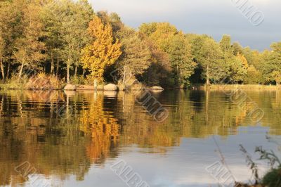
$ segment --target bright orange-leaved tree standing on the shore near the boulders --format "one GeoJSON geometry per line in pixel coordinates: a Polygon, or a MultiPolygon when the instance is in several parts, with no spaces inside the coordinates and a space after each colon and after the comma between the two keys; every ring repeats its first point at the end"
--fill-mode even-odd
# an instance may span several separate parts
{"type": "Polygon", "coordinates": [[[111,25],[105,25],[98,16],[89,23],[89,34],[93,41],[82,50],[81,62],[91,72],[91,78],[103,80],[103,72],[122,54],[121,44],[112,37],[111,25]]]}

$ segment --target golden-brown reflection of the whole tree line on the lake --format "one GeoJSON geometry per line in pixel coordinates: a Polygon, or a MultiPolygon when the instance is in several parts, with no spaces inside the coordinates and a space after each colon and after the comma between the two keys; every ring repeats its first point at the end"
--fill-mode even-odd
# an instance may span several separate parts
{"type": "MultiPolygon", "coordinates": [[[[281,92],[247,95],[266,113],[260,124],[279,135],[281,92]]],[[[162,123],[135,101],[135,93],[0,91],[0,186],[23,183],[14,168],[25,161],[46,177],[83,180],[92,165],[104,165],[126,146],[166,154],[183,137],[228,136],[257,125],[220,91],[153,96],[169,110],[162,123]]]]}

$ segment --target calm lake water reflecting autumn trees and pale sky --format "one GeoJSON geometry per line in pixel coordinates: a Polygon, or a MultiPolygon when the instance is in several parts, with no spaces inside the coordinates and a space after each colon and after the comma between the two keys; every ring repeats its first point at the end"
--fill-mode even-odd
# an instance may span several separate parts
{"type": "Polygon", "coordinates": [[[223,92],[153,95],[164,122],[133,93],[0,91],[0,186],[126,186],[111,169],[122,160],[149,186],[218,186],[206,171],[218,146],[239,181],[251,178],[240,144],[254,160],[255,146],[280,153],[281,92],[247,92],[265,112],[258,124],[223,92]]]}

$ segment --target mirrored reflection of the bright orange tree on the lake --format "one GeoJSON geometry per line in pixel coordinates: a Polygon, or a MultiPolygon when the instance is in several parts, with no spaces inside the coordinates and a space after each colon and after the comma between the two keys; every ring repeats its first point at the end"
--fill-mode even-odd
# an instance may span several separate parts
{"type": "Polygon", "coordinates": [[[103,95],[89,98],[89,109],[83,110],[80,131],[91,135],[92,143],[86,147],[87,155],[98,160],[107,157],[112,143],[117,143],[119,136],[118,120],[103,108],[103,95]]]}

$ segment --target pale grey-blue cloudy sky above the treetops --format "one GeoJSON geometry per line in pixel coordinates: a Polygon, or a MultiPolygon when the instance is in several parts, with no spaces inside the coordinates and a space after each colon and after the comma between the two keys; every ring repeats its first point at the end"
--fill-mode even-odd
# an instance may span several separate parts
{"type": "Polygon", "coordinates": [[[208,34],[216,41],[230,34],[233,42],[259,51],[281,41],[280,0],[89,1],[94,11],[116,12],[122,22],[133,28],[143,22],[171,22],[185,33],[208,34]],[[244,8],[251,6],[254,11],[245,15],[244,8]]]}

